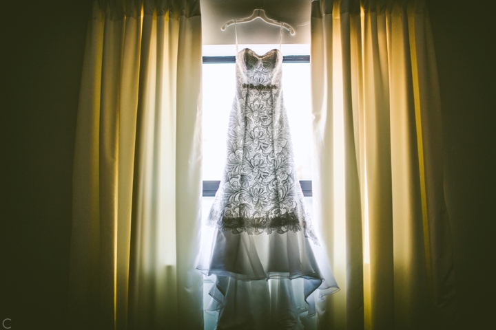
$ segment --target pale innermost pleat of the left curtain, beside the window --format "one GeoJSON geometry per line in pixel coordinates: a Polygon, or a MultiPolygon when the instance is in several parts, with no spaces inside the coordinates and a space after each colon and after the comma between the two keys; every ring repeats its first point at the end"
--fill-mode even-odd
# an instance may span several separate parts
{"type": "MultiPolygon", "coordinates": [[[[199,2],[198,8],[199,8],[199,2]]],[[[176,249],[178,274],[178,315],[182,329],[196,329],[199,320],[203,322],[203,275],[196,266],[200,248],[201,208],[199,199],[192,207],[191,196],[200,198],[201,186],[201,72],[202,39],[200,17],[192,21],[181,21],[179,43],[184,45],[178,50],[178,80],[176,102],[177,112],[176,137],[176,249]],[[191,111],[183,111],[191,109],[191,111]],[[195,166],[196,170],[189,168],[195,166]],[[188,219],[194,219],[194,221],[188,219]],[[193,225],[194,224],[194,225],[193,225]],[[194,298],[194,299],[193,299],[194,298]],[[199,319],[199,320],[198,320],[199,319]]],[[[202,325],[203,329],[203,325],[202,325]]]]}

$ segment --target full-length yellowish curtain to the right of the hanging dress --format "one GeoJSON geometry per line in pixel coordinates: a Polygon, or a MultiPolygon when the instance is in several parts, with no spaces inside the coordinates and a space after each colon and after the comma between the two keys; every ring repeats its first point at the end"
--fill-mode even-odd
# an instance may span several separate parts
{"type": "Polygon", "coordinates": [[[446,329],[453,252],[424,1],[313,1],[311,75],[314,208],[342,288],[322,320],[446,329]]]}

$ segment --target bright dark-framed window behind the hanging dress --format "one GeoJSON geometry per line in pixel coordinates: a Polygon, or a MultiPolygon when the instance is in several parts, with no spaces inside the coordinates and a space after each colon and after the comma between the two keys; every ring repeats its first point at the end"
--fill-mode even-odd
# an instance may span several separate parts
{"type": "MultiPolygon", "coordinates": [[[[264,54],[272,45],[243,45],[264,54]]],[[[276,46],[278,47],[278,45],[276,46]]],[[[234,45],[203,46],[203,196],[212,197],[225,162],[227,124],[235,89],[234,45]]],[[[298,179],[311,196],[309,45],[284,45],[282,85],[298,179]]]]}

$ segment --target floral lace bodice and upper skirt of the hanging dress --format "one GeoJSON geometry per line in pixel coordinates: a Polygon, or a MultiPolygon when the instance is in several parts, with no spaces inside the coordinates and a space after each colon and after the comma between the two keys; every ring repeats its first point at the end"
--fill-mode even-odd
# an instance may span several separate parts
{"type": "Polygon", "coordinates": [[[258,56],[245,49],[236,56],[227,161],[208,223],[234,234],[303,230],[318,244],[293,162],[281,63],[278,50],[258,56]]]}

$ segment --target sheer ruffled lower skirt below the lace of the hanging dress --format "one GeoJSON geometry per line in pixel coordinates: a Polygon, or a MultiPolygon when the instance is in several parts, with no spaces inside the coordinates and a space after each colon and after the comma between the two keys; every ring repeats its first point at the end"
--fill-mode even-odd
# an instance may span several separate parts
{"type": "Polygon", "coordinates": [[[316,303],[339,290],[322,248],[301,230],[211,230],[197,268],[214,281],[205,310],[218,313],[216,329],[303,329],[316,303]]]}

